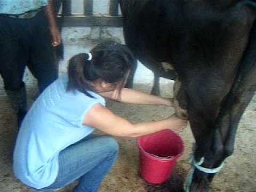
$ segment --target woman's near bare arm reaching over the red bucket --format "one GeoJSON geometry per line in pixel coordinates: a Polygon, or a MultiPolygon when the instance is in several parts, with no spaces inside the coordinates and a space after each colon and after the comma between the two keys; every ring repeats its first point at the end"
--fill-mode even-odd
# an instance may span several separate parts
{"type": "Polygon", "coordinates": [[[139,137],[164,129],[179,131],[187,125],[187,121],[171,116],[162,121],[130,123],[97,103],[84,115],[83,124],[90,125],[102,132],[115,136],[139,137]]]}

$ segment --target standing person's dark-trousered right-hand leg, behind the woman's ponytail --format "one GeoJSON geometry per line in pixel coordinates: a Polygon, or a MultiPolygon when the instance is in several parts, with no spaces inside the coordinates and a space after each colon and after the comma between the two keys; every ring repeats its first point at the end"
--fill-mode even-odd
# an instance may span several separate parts
{"type": "Polygon", "coordinates": [[[31,50],[27,66],[38,81],[39,92],[58,78],[57,60],[54,58],[49,22],[44,10],[31,19],[31,50]]]}

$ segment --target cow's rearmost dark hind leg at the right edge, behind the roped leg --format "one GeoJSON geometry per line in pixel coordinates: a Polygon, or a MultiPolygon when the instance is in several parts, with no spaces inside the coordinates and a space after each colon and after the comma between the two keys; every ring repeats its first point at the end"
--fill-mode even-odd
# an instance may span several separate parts
{"type": "MultiPolygon", "coordinates": [[[[216,138],[221,138],[223,142],[223,151],[219,162],[234,153],[234,143],[239,120],[256,91],[256,82],[254,81],[256,74],[255,50],[256,23],[254,23],[252,28],[249,45],[239,66],[236,81],[227,96],[216,123],[218,130],[216,138]]],[[[210,181],[212,178],[213,175],[209,175],[210,181]]]]}

